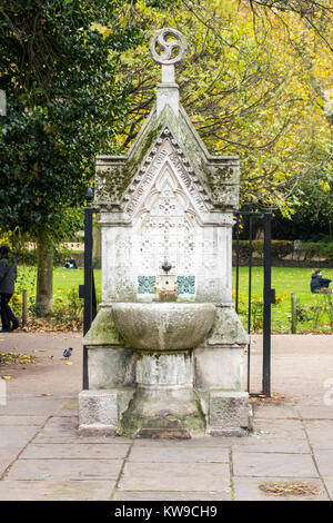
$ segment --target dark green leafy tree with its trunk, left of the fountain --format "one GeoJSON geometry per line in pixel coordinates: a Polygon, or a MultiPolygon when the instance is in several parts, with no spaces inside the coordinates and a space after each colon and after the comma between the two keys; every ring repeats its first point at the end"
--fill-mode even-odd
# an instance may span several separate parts
{"type": "Polygon", "coordinates": [[[0,229],[38,246],[37,307],[52,308],[52,250],[77,227],[95,155],[125,114],[121,52],[145,20],[124,0],[1,0],[0,229]]]}

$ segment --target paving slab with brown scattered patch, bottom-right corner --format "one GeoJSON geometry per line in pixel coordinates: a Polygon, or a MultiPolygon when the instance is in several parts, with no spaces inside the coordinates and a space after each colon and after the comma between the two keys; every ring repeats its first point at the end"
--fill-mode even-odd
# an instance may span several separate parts
{"type": "Polygon", "coordinates": [[[325,487],[321,480],[309,477],[234,477],[234,500],[235,501],[329,501],[325,487]],[[314,487],[317,494],[312,495],[272,495],[260,489],[260,485],[273,483],[304,483],[314,487]]]}

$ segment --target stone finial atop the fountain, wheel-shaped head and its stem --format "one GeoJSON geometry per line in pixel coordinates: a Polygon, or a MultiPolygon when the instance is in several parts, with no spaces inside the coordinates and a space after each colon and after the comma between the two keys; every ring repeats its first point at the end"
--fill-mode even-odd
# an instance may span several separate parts
{"type": "Polygon", "coordinates": [[[178,116],[179,91],[174,82],[174,63],[184,59],[188,51],[186,40],[176,29],[160,29],[151,40],[150,50],[153,60],[162,65],[162,83],[158,88],[158,116],[165,105],[178,116]]]}

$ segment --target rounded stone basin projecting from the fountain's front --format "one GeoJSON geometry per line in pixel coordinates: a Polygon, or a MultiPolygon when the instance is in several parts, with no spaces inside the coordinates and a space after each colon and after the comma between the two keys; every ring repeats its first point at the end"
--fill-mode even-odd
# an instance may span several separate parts
{"type": "Polygon", "coordinates": [[[215,306],[209,303],[115,303],[115,327],[131,348],[176,351],[200,345],[212,328],[215,306]]]}

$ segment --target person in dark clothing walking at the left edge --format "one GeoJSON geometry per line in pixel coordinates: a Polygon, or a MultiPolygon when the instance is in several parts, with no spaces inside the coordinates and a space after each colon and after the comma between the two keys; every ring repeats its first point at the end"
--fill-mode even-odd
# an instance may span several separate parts
{"type": "Polygon", "coordinates": [[[17,278],[17,260],[10,256],[7,245],[0,247],[0,314],[2,322],[1,333],[10,333],[18,328],[20,323],[9,306],[9,300],[14,293],[17,278]]]}

